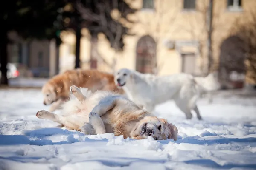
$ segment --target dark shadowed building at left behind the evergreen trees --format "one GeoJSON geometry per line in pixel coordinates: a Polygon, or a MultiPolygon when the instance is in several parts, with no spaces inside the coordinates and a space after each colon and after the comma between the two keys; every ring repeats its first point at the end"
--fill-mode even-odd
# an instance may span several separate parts
{"type": "Polygon", "coordinates": [[[9,33],[8,59],[22,77],[52,77],[58,74],[58,51],[55,40],[23,40],[15,32],[9,33]]]}

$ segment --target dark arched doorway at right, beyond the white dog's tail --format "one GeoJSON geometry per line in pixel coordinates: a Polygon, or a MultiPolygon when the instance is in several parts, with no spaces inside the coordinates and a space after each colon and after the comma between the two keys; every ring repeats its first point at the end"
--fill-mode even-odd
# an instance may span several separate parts
{"type": "Polygon", "coordinates": [[[221,44],[218,78],[222,88],[242,88],[245,75],[245,45],[237,36],[228,37],[221,44]]]}

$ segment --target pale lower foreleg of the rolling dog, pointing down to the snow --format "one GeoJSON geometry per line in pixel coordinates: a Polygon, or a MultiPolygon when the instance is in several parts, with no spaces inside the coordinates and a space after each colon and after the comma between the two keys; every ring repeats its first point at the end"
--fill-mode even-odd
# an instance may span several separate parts
{"type": "Polygon", "coordinates": [[[105,125],[97,113],[90,112],[89,114],[89,123],[93,126],[96,134],[106,133],[105,125]]]}

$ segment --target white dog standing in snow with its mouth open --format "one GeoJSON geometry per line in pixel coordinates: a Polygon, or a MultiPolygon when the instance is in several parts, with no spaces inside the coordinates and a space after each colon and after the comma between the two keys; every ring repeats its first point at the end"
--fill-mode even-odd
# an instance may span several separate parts
{"type": "Polygon", "coordinates": [[[200,91],[203,87],[208,90],[216,87],[201,86],[203,80],[199,80],[185,73],[157,77],[125,68],[115,74],[116,84],[125,91],[129,99],[147,111],[152,112],[155,105],[173,99],[177,107],[186,114],[186,119],[192,118],[191,110],[194,110],[198,119],[201,120],[196,105],[200,91]]]}

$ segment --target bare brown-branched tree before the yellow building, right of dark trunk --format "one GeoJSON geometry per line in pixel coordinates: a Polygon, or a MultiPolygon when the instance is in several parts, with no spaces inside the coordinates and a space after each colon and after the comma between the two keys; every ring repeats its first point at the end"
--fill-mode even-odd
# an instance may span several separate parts
{"type": "Polygon", "coordinates": [[[130,8],[124,0],[97,0],[93,1],[93,8],[85,6],[80,1],[76,2],[76,8],[80,12],[81,17],[86,20],[87,24],[94,26],[86,26],[91,34],[91,60],[103,62],[115,70],[116,58],[119,51],[122,51],[124,42],[123,37],[130,35],[125,23],[133,23],[128,20],[128,14],[135,12],[130,8]],[[109,63],[98,52],[98,33],[105,34],[106,38],[114,49],[113,61],[109,63]]]}

